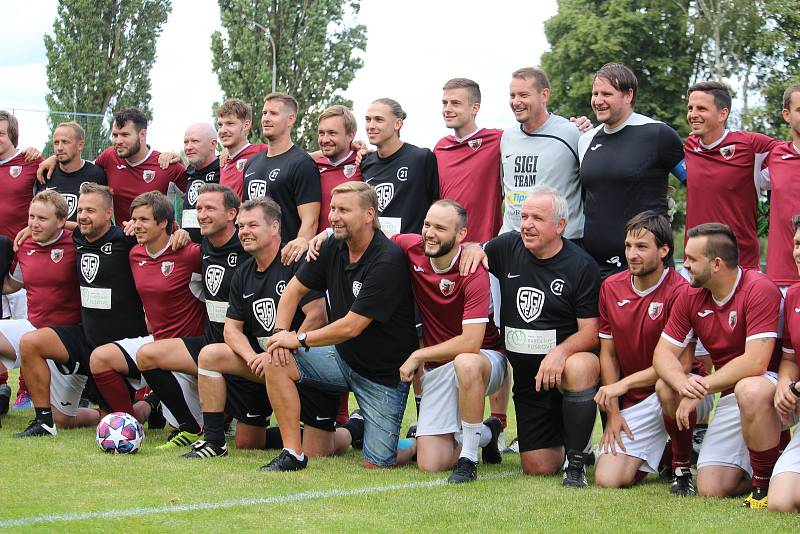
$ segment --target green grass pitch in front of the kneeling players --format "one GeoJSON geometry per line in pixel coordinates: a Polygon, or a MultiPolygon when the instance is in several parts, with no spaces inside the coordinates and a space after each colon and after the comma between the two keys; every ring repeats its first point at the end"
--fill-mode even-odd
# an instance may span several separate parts
{"type": "MultiPolygon", "coordinates": [[[[404,430],[413,413],[409,403],[404,430]]],[[[448,486],[446,473],[365,470],[357,451],[276,474],[257,468],[277,451],[232,449],[228,458],[204,461],[156,451],[163,430],[146,430],[133,456],[102,453],[89,428],[12,438],[32,415],[2,419],[0,532],[752,533],[800,526],[797,517],[742,509],[741,499],[673,497],[654,475],[628,490],[565,489],[560,476],[523,476],[517,455],[480,466],[476,483],[448,486]]],[[[509,441],[516,434],[513,421],[506,433],[509,441]]]]}

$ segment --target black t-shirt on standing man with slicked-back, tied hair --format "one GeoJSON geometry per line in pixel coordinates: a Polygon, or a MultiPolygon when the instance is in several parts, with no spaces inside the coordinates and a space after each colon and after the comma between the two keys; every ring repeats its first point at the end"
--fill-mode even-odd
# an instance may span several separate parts
{"type": "Polygon", "coordinates": [[[428,208],[439,200],[439,170],[433,152],[411,143],[403,143],[387,158],[372,152],[361,163],[361,175],[378,194],[384,230],[391,234],[422,231],[428,208]]]}

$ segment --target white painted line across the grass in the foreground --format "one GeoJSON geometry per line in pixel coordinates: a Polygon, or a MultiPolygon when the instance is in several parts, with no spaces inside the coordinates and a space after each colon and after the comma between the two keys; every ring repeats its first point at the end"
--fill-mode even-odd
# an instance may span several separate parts
{"type": "MultiPolygon", "coordinates": [[[[482,476],[480,480],[506,478],[519,474],[518,470],[494,473],[482,476]]],[[[353,488],[349,490],[303,491],[288,495],[276,495],[261,499],[235,499],[221,502],[198,502],[190,504],[175,504],[171,506],[153,506],[150,508],[129,508],[127,510],[107,510],[105,512],[78,512],[71,514],[47,514],[19,517],[16,519],[0,519],[0,528],[27,527],[39,523],[65,523],[71,521],[85,521],[87,519],[117,519],[120,517],[153,515],[175,512],[193,512],[196,510],[221,510],[223,508],[237,508],[254,506],[257,504],[285,504],[289,502],[308,501],[312,499],[330,499],[335,497],[353,497],[357,495],[374,495],[391,491],[402,491],[415,488],[431,488],[445,484],[444,479],[429,480],[425,482],[409,482],[406,484],[393,484],[391,486],[372,486],[366,488],[353,488]]]]}

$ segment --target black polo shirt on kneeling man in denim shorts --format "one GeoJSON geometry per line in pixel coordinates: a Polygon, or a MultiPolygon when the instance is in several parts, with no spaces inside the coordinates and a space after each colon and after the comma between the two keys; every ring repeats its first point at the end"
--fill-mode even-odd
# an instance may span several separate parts
{"type": "Polygon", "coordinates": [[[376,232],[351,264],[347,244],[330,237],[317,261],[304,264],[296,276],[308,288],[328,290],[330,322],[351,310],[372,319],[361,334],[336,348],[361,376],[395,387],[400,366],[418,348],[408,262],[400,247],[376,232]]]}

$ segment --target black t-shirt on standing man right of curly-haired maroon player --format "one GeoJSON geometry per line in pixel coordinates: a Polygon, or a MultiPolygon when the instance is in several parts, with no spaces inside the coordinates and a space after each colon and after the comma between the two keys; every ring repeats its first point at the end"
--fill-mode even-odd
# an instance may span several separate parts
{"type": "Polygon", "coordinates": [[[300,231],[297,206],[321,202],[319,169],[297,145],[277,156],[259,152],[244,168],[244,199],[268,196],[281,207],[281,241],[288,243],[300,231]]]}

